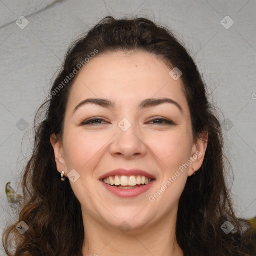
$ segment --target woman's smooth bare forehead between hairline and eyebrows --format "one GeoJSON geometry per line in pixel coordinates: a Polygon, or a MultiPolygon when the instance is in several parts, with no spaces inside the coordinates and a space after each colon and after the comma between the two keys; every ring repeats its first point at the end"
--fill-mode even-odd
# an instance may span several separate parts
{"type": "Polygon", "coordinates": [[[182,80],[174,80],[170,70],[163,60],[143,51],[99,54],[77,74],[67,107],[74,108],[89,97],[110,98],[117,107],[146,98],[170,97],[187,111],[182,80]]]}

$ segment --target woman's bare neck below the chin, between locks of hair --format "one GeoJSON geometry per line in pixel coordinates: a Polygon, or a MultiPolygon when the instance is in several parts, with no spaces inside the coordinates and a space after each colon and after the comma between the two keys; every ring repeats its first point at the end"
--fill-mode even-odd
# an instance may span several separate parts
{"type": "Polygon", "coordinates": [[[99,222],[83,214],[84,243],[83,256],[183,256],[177,244],[176,217],[167,216],[155,223],[148,223],[137,229],[121,231],[107,223],[99,222]],[[150,225],[149,225],[150,224],[150,225]]]}

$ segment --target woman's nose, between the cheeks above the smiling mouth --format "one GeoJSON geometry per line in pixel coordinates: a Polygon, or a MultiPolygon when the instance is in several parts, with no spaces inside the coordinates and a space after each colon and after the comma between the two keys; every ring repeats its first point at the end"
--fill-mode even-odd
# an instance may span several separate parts
{"type": "MultiPolygon", "coordinates": [[[[121,127],[121,126],[120,126],[121,127]]],[[[142,133],[135,123],[125,130],[116,126],[116,135],[110,145],[110,153],[114,157],[124,157],[126,159],[140,158],[148,150],[142,133]]]]}

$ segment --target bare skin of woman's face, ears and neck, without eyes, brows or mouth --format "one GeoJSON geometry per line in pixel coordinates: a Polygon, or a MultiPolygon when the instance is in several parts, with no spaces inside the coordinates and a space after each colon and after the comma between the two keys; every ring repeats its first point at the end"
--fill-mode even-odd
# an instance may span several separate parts
{"type": "Polygon", "coordinates": [[[193,142],[182,81],[174,80],[170,70],[150,53],[118,51],[97,55],[76,76],[67,102],[62,139],[53,134],[51,144],[57,170],[64,170],[66,176],[75,169],[80,175],[70,184],[82,207],[83,256],[183,255],[175,237],[178,200],[187,177],[203,162],[207,134],[206,142],[193,142]],[[86,104],[73,113],[78,103],[90,97],[113,100],[116,107],[86,104]],[[183,113],[170,103],[138,108],[144,99],[163,97],[178,102],[183,113]],[[176,125],[151,121],[157,116],[176,125]],[[103,121],[80,125],[90,117],[103,121]],[[122,118],[131,123],[127,131],[117,125],[122,118]],[[183,173],[179,171],[180,176],[150,202],[149,196],[198,151],[201,154],[192,164],[183,173]],[[145,170],[156,181],[135,198],[119,198],[105,189],[99,177],[120,167],[145,170]],[[130,226],[126,233],[118,228],[123,221],[130,226]]]}

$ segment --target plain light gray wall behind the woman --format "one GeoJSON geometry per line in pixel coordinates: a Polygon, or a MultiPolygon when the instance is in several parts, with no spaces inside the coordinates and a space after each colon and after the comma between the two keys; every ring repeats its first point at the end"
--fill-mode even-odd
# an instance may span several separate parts
{"type": "Polygon", "coordinates": [[[71,41],[109,14],[150,18],[185,42],[222,111],[236,213],[256,216],[255,7],[255,0],[0,0],[0,235],[15,220],[4,188],[11,181],[20,192],[35,111],[71,41]],[[20,16],[29,22],[23,29],[20,16]]]}

